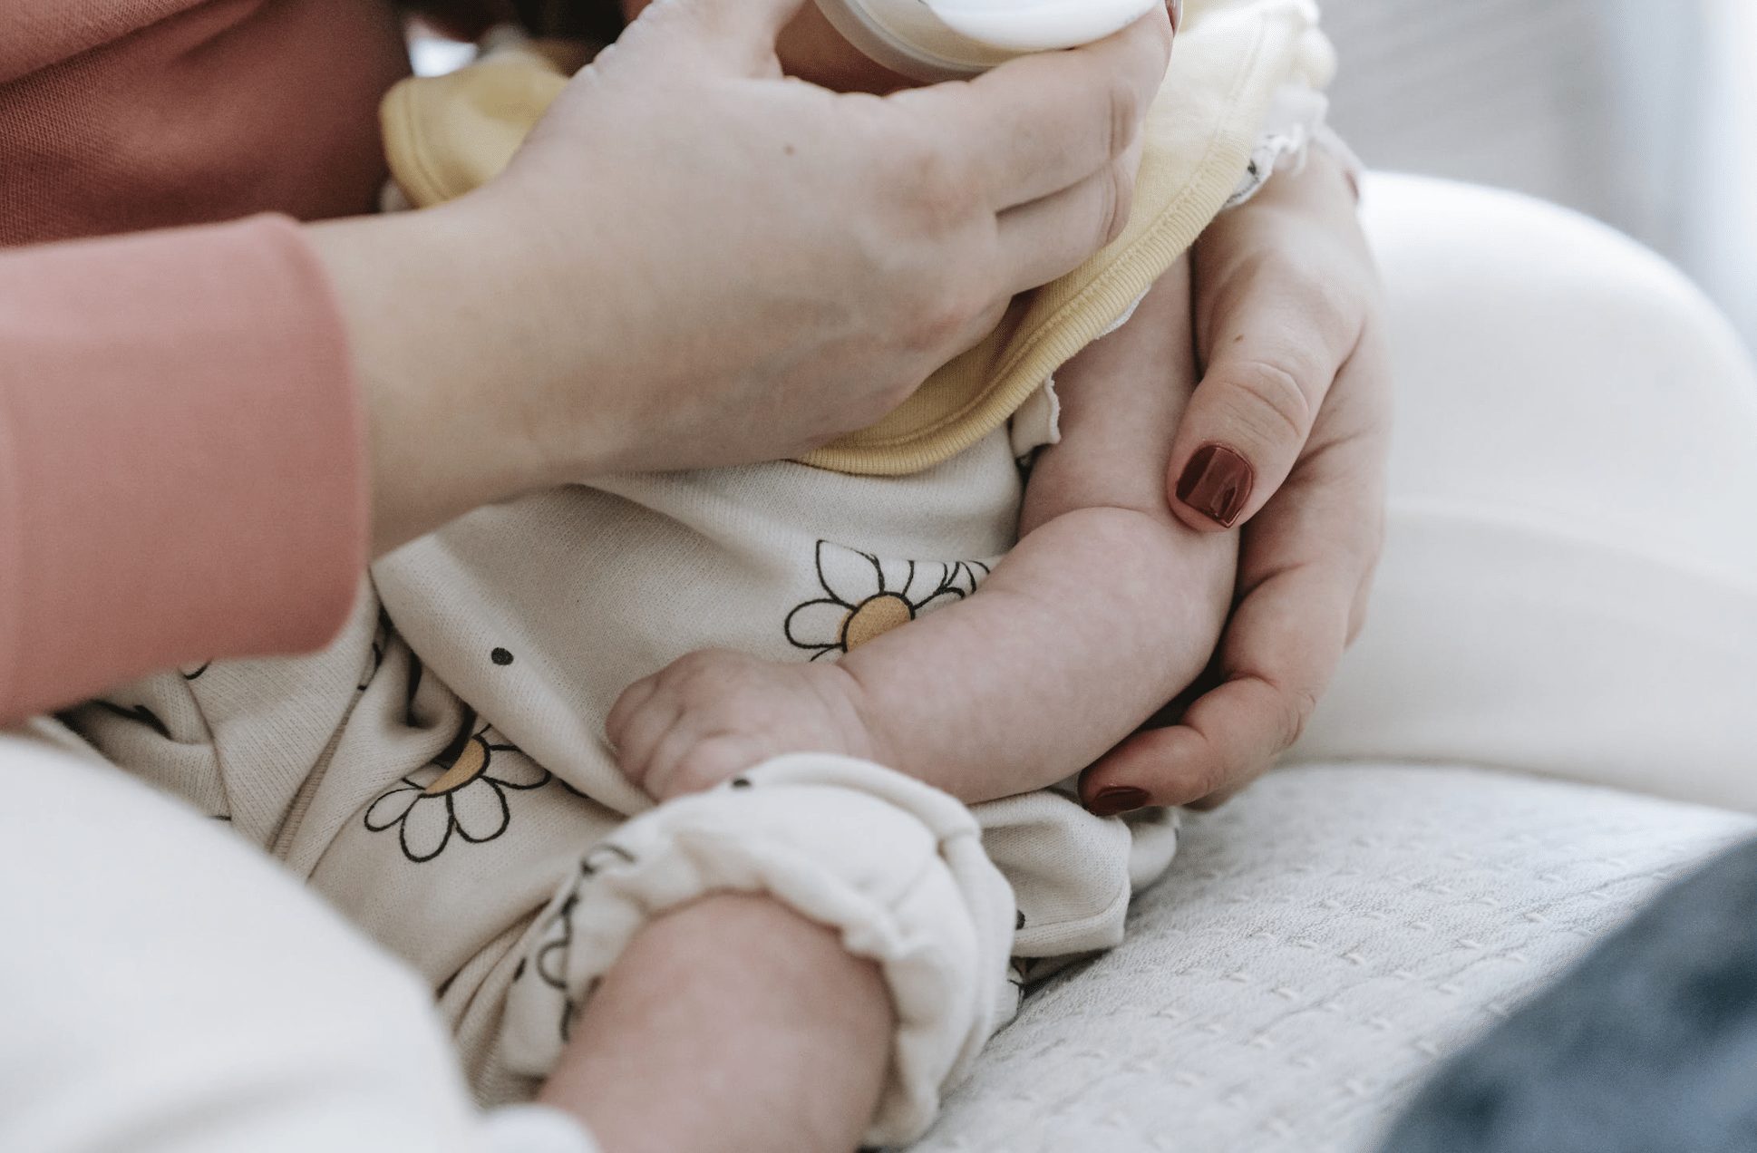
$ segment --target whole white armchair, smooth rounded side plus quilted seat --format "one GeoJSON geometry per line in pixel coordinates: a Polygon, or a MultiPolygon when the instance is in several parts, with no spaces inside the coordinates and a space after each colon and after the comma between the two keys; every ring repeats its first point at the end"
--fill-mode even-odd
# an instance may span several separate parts
{"type": "Polygon", "coordinates": [[[1377,178],[1367,221],[1400,369],[1367,631],[1290,766],[1189,819],[1130,939],[1026,1004],[924,1153],[1363,1153],[1437,1056],[1757,828],[1736,337],[1562,209],[1377,178]]]}

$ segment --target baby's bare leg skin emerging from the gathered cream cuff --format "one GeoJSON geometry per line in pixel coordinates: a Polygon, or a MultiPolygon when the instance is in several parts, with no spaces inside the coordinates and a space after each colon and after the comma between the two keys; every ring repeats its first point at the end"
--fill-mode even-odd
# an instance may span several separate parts
{"type": "Polygon", "coordinates": [[[541,1100],[585,1118],[604,1153],[847,1153],[893,1032],[878,967],[833,930],[717,895],[634,937],[541,1100]]]}

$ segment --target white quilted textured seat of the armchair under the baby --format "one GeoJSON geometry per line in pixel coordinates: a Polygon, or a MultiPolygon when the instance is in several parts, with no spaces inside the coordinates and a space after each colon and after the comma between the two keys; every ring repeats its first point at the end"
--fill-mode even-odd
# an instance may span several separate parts
{"type": "Polygon", "coordinates": [[[1752,817],[1460,768],[1270,775],[1026,1002],[919,1153],[1365,1151],[1414,1079],[1752,817]]]}

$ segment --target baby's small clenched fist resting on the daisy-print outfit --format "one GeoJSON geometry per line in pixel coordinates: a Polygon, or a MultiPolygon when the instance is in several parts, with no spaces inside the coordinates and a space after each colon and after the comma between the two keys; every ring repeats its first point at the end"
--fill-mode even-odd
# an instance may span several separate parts
{"type": "Polygon", "coordinates": [[[859,696],[859,682],[836,664],[710,649],[624,689],[604,729],[624,775],[664,801],[784,752],[877,759],[859,696]]]}

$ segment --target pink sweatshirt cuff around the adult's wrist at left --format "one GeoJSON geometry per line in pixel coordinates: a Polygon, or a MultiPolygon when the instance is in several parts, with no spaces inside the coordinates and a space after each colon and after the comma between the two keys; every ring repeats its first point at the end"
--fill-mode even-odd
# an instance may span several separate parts
{"type": "Polygon", "coordinates": [[[364,445],[293,221],[0,253],[0,721],[329,640],[364,445]]]}

